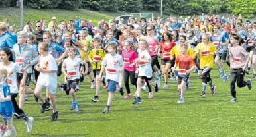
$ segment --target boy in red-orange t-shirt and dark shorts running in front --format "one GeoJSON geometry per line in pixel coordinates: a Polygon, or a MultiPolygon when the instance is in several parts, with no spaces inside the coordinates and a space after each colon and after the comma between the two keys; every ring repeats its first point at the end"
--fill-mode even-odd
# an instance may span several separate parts
{"type": "MultiPolygon", "coordinates": [[[[185,94],[186,82],[188,81],[191,70],[193,70],[196,67],[196,63],[194,63],[194,59],[186,53],[187,50],[188,50],[188,45],[186,44],[180,45],[181,55],[178,55],[174,65],[174,68],[178,66],[178,88],[181,91],[180,100],[177,103],[185,103],[184,94],[185,94]],[[192,67],[190,68],[191,64],[192,64],[192,67]]],[[[174,69],[172,69],[172,72],[174,72],[174,69]]]]}

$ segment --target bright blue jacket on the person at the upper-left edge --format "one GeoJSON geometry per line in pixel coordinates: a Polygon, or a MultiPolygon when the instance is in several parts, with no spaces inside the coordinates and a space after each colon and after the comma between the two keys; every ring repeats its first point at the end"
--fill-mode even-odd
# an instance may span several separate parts
{"type": "Polygon", "coordinates": [[[13,36],[9,32],[4,32],[0,36],[1,49],[5,48],[5,47],[12,49],[14,44],[15,44],[15,42],[13,41],[13,36]]]}

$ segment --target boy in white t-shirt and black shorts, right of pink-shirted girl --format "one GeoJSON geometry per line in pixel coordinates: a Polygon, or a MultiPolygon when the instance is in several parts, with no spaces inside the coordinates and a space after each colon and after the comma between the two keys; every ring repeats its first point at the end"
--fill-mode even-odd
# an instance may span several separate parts
{"type": "Polygon", "coordinates": [[[149,51],[147,48],[149,47],[147,41],[145,39],[139,40],[139,55],[138,58],[135,59],[135,63],[139,66],[139,74],[137,80],[137,91],[135,96],[136,99],[133,101],[133,104],[142,103],[141,101],[141,82],[145,80],[147,86],[149,87],[149,97],[153,98],[153,92],[151,84],[155,87],[155,92],[158,92],[159,88],[157,86],[157,82],[151,82],[153,77],[153,70],[151,67],[151,55],[149,55],[149,51]]]}

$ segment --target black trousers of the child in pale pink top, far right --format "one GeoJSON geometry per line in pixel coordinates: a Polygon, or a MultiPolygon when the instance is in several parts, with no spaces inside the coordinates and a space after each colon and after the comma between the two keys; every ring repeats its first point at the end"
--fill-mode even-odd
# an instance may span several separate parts
{"type": "Polygon", "coordinates": [[[236,98],[235,82],[239,88],[247,86],[247,82],[243,80],[244,76],[243,69],[231,69],[230,90],[233,98],[236,98]]]}

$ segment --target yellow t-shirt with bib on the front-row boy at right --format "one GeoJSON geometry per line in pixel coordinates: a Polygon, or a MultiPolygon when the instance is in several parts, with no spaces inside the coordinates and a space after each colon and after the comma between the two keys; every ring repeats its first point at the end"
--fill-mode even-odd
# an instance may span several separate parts
{"type": "Polygon", "coordinates": [[[211,53],[217,52],[214,43],[208,43],[205,45],[204,43],[199,43],[194,51],[199,50],[199,62],[200,62],[200,69],[204,69],[204,67],[212,68],[214,66],[214,55],[211,53]]]}

